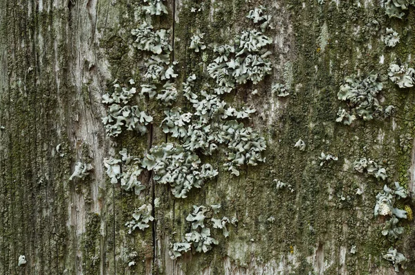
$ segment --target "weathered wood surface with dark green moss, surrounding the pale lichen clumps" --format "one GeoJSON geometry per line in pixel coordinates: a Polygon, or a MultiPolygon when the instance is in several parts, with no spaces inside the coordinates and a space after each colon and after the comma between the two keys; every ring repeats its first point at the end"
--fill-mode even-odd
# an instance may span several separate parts
{"type": "MultiPolygon", "coordinates": [[[[113,80],[139,79],[142,71],[142,56],[131,46],[142,1],[0,1],[0,274],[395,274],[382,259],[391,244],[373,214],[385,183],[358,174],[353,161],[374,159],[387,169],[386,182],[415,191],[414,89],[387,79],[396,58],[413,61],[415,9],[400,20],[389,19],[380,1],[325,2],[168,2],[169,15],[158,24],[174,33],[177,83],[205,70],[201,54],[188,49],[196,29],[205,33],[210,61],[214,44],[250,28],[250,9],[266,6],[274,26],[273,73],[226,98],[258,110],[250,126],[266,136],[266,163],[243,168],[239,177],[219,165],[219,177],[175,199],[151,174],[135,196],[110,184],[104,172],[104,157],[121,148],[142,155],[167,139],[156,103],[146,107],[155,118],[147,136],[109,139],[100,119],[101,96],[113,80]],[[387,27],[400,33],[395,48],[380,39],[387,27]],[[396,114],[335,123],[344,107],[337,96],[344,77],[371,71],[384,82],[382,105],[396,106],[396,114]],[[291,95],[273,95],[276,82],[292,87],[291,95]],[[252,96],[255,88],[259,94],[252,96]],[[293,147],[298,139],[306,142],[305,152],[293,147]],[[321,152],[339,160],[321,167],[321,152]],[[93,175],[69,181],[80,160],[93,164],[93,175]],[[273,179],[294,191],[276,190],[273,179]],[[356,195],[356,188],[364,193],[356,195]],[[133,209],[155,197],[160,207],[151,229],[128,234],[124,224],[133,209]],[[219,203],[225,215],[239,219],[230,237],[217,236],[219,245],[207,254],[170,260],[169,243],[188,229],[192,205],[219,203]],[[138,253],[133,267],[131,251],[138,253]],[[28,262],[18,267],[20,255],[28,262]]],[[[414,220],[403,224],[396,247],[409,263],[401,273],[414,274],[414,220]]]]}

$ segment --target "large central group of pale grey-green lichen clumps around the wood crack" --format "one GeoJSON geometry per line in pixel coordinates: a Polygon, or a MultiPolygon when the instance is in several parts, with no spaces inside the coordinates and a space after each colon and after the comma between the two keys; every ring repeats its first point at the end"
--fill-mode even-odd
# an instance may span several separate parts
{"type": "MultiPolygon", "coordinates": [[[[273,39],[263,32],[270,26],[271,17],[264,14],[266,9],[262,6],[251,10],[248,19],[259,24],[261,30],[242,30],[230,44],[216,46],[216,57],[207,66],[208,76],[213,78],[215,85],[205,84],[196,89],[199,77],[195,74],[190,75],[181,87],[176,84],[176,62],[171,60],[169,30],[155,29],[151,24],[151,17],[168,13],[163,1],[145,0],[145,5],[141,8],[146,15],[145,20],[138,28],[131,30],[133,47],[145,57],[142,82],[138,85],[134,80],[127,85],[114,82],[113,91],[102,96],[102,103],[108,106],[108,114],[102,122],[111,137],[122,134],[125,129],[145,134],[153,118],[138,106],[155,99],[165,107],[165,118],[160,127],[172,140],[152,145],[142,158],[131,157],[123,149],[119,152],[120,158],[105,159],[104,166],[111,183],[119,183],[124,190],[134,190],[139,195],[145,189],[140,177],[147,170],[151,171],[149,175],[157,184],[169,184],[174,197],[183,199],[192,188],[201,188],[206,180],[218,175],[217,168],[202,163],[200,154],[210,156],[222,148],[226,157],[223,165],[236,176],[239,176],[240,166],[256,166],[265,161],[262,155],[266,149],[264,137],[245,126],[255,109],[247,105],[238,109],[231,107],[221,96],[247,82],[256,85],[270,73],[271,53],[267,46],[273,39]],[[140,92],[137,93],[137,90],[140,92]],[[178,107],[177,103],[183,101],[190,103],[187,112],[178,107]],[[137,104],[133,105],[133,102],[137,104]]],[[[204,35],[198,29],[192,36],[189,48],[195,53],[207,48],[203,42],[204,35]]],[[[207,59],[207,55],[202,56],[203,62],[207,59]]],[[[205,227],[204,220],[206,211],[217,213],[219,208],[220,205],[212,205],[210,209],[194,206],[194,212],[187,216],[187,221],[192,222],[192,231],[185,235],[183,242],[172,245],[172,258],[176,259],[192,247],[196,252],[206,252],[217,244],[217,240],[210,236],[210,229],[205,227]]],[[[129,233],[136,228],[148,228],[149,222],[154,220],[151,211],[151,204],[143,204],[137,209],[133,220],[126,224],[129,233]]],[[[210,222],[214,229],[221,229],[223,236],[227,237],[226,224],[236,224],[236,219],[210,218],[210,222]]]]}

